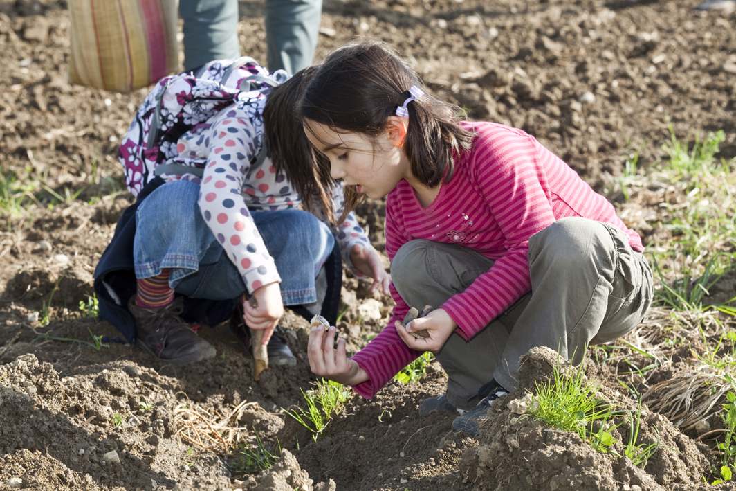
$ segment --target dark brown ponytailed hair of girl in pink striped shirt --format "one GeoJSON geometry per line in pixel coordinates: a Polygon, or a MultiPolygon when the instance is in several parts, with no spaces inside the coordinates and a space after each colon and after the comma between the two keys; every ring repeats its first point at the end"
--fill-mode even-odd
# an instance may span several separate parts
{"type": "MultiPolygon", "coordinates": [[[[332,52],[307,83],[299,112],[304,119],[346,131],[378,136],[389,116],[409,97],[419,76],[388,46],[376,41],[355,43],[332,52]]],[[[425,91],[426,92],[426,91],[425,91]]],[[[473,133],[459,125],[461,111],[425,94],[408,104],[408,128],[403,150],[411,173],[434,187],[453,173],[453,157],[468,150],[473,133]]],[[[320,165],[328,164],[325,160],[320,165]]],[[[345,209],[358,200],[345,189],[345,209]]]]}

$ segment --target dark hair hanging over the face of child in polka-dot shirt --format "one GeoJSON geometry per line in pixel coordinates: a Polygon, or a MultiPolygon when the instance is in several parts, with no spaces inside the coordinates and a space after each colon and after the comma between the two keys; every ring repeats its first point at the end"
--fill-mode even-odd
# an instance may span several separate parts
{"type": "Polygon", "coordinates": [[[276,172],[286,175],[299,193],[304,208],[314,211],[316,204],[322,205],[328,220],[334,222],[328,189],[335,182],[330,177],[329,164],[312,149],[297,113],[306,83],[315,72],[314,66],[300,70],[273,88],[263,108],[263,137],[276,172]]]}

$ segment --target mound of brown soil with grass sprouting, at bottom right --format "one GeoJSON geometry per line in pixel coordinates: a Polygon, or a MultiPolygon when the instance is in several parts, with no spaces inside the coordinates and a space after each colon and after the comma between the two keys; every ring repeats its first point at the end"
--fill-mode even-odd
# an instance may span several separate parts
{"type": "MultiPolygon", "coordinates": [[[[531,349],[522,357],[517,391],[492,406],[481,430],[480,445],[467,448],[461,456],[459,467],[467,483],[484,490],[534,485],[550,491],[618,491],[622,483],[647,490],[686,490],[703,476],[707,460],[696,443],[667,419],[645,408],[640,442],[656,440],[659,445],[643,469],[618,456],[623,455],[620,442],[628,436],[623,425],[612,431],[617,442],[613,448],[616,455],[598,452],[577,434],[550,428],[528,414],[517,416],[530,399],[530,392],[534,393],[534,384],[549,380],[554,366],[559,366],[563,374],[573,371],[548,348],[531,349]]],[[[594,379],[587,383],[600,387],[601,400],[616,408],[636,408],[636,402],[627,395],[604,388],[594,379]]]]}

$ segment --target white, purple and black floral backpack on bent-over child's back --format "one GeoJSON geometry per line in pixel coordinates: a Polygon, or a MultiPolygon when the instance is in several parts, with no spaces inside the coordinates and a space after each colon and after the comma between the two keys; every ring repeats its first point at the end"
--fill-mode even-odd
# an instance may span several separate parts
{"type": "MultiPolygon", "coordinates": [[[[269,74],[247,57],[212,61],[197,72],[159,80],[125,133],[118,160],[133,196],[158,175],[201,176],[201,164],[177,158],[179,137],[197,125],[206,125],[208,119],[233,102],[252,100],[247,107],[256,111],[258,101],[288,78],[283,70],[269,74]]],[[[252,119],[256,127],[263,125],[260,118],[252,119]]],[[[265,158],[266,149],[261,147],[255,159],[265,158]]]]}

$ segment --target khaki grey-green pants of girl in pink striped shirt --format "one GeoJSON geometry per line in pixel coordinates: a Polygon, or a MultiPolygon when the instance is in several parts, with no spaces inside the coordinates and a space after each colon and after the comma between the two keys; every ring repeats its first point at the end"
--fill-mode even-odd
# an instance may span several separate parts
{"type": "MultiPolygon", "coordinates": [[[[412,240],[391,264],[394,286],[410,306],[439,307],[493,265],[467,247],[412,240]]],[[[472,408],[491,378],[517,384],[519,357],[546,346],[580,363],[588,344],[634,329],[652,300],[651,269],[629,247],[623,231],[570,217],[529,240],[531,292],[493,319],[470,341],[454,333],[437,353],[447,372],[447,399],[472,408]]]]}

